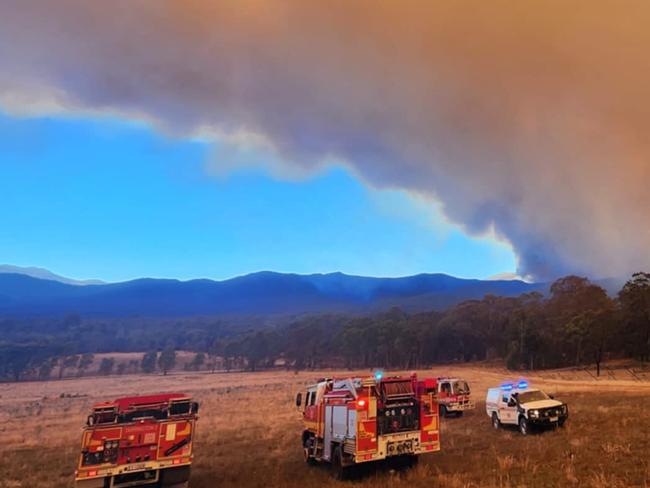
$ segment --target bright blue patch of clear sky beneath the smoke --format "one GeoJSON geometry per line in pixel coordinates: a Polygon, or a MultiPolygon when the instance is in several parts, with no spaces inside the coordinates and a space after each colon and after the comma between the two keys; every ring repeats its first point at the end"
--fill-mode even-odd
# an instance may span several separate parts
{"type": "Polygon", "coordinates": [[[107,281],[516,267],[509,245],[468,237],[435,206],[343,167],[283,181],[251,152],[252,168],[215,177],[213,153],[124,120],[0,115],[0,263],[107,281]]]}

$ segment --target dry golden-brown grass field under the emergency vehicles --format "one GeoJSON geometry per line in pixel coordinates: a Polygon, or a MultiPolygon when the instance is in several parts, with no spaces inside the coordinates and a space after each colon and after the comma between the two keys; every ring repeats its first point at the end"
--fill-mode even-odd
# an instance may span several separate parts
{"type": "MultiPolygon", "coordinates": [[[[332,374],[332,373],[328,373],[332,374]]],[[[421,373],[422,374],[422,373],[421,373]]],[[[529,377],[570,406],[563,429],[521,437],[494,431],[484,413],[488,386],[504,371],[436,368],[470,381],[476,411],[443,421],[442,451],[408,471],[376,466],[343,486],[650,486],[650,382],[594,381],[569,373],[529,377]]],[[[326,467],[303,463],[295,393],[318,373],[177,373],[0,385],[0,487],[73,485],[79,436],[90,405],[126,394],[187,391],[201,402],[190,486],[341,486],[326,467]]]]}

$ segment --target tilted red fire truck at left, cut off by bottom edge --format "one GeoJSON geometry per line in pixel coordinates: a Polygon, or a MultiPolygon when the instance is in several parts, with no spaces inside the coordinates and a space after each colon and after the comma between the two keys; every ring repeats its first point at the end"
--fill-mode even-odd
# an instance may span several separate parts
{"type": "Polygon", "coordinates": [[[76,486],[186,487],[198,410],[182,393],[96,404],[81,439],[76,486]]]}

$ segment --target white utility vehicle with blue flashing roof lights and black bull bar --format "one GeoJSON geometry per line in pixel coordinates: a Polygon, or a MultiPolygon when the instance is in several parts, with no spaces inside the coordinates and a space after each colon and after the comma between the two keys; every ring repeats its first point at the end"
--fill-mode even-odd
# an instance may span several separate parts
{"type": "Polygon", "coordinates": [[[566,403],[555,400],[542,390],[530,388],[526,381],[490,388],[485,410],[495,429],[516,425],[526,435],[532,427],[562,426],[569,417],[566,403]]]}

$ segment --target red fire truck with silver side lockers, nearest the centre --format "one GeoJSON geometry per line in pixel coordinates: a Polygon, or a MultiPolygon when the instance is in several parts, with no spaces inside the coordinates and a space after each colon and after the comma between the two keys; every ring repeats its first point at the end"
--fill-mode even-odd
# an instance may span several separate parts
{"type": "Polygon", "coordinates": [[[355,464],[440,450],[436,380],[410,377],[324,378],[296,397],[302,406],[305,461],[329,462],[335,478],[355,464]]]}

